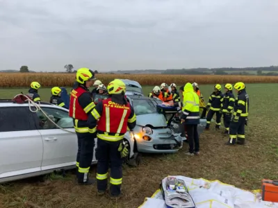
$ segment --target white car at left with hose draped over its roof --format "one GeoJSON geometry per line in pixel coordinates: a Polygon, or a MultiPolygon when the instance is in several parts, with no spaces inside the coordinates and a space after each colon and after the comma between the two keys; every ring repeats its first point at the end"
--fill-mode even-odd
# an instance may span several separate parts
{"type": "MultiPolygon", "coordinates": [[[[0,183],[75,168],[77,137],[68,110],[50,103],[41,103],[40,107],[70,132],[57,128],[41,111],[31,112],[35,110],[32,104],[29,110],[28,103],[0,101],[0,183]]],[[[126,132],[124,139],[131,149],[129,158],[136,165],[130,138],[130,132],[126,132]]],[[[95,163],[94,150],[92,164],[95,163]]]]}

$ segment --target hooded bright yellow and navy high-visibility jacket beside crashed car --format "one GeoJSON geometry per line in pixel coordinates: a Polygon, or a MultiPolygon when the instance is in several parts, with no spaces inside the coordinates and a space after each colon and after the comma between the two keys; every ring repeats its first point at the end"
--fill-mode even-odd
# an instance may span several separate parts
{"type": "Polygon", "coordinates": [[[181,119],[185,119],[186,124],[199,124],[199,96],[194,92],[191,83],[186,83],[183,89],[181,119]]]}

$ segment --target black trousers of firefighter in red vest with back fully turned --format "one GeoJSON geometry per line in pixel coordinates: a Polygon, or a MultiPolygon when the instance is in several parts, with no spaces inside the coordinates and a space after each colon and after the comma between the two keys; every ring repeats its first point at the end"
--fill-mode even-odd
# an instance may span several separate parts
{"type": "Polygon", "coordinates": [[[121,193],[123,159],[117,150],[121,142],[97,138],[97,189],[106,191],[108,167],[111,162],[110,193],[112,196],[119,196],[121,193]]]}

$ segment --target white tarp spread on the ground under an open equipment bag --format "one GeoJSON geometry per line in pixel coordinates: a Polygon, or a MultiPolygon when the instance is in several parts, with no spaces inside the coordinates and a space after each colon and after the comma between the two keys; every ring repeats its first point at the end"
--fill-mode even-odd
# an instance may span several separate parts
{"type": "MultiPolygon", "coordinates": [[[[261,193],[245,191],[218,180],[193,179],[181,175],[177,177],[188,187],[196,208],[278,208],[278,203],[264,202],[261,193]]],[[[161,191],[157,190],[152,198],[146,198],[140,208],[167,208],[161,191]]]]}

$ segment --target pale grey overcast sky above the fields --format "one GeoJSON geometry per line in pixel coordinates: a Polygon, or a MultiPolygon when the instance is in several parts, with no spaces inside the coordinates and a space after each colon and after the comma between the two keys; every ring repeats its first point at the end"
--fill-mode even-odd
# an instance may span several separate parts
{"type": "Polygon", "coordinates": [[[278,65],[278,0],[0,0],[0,69],[278,65]]]}

